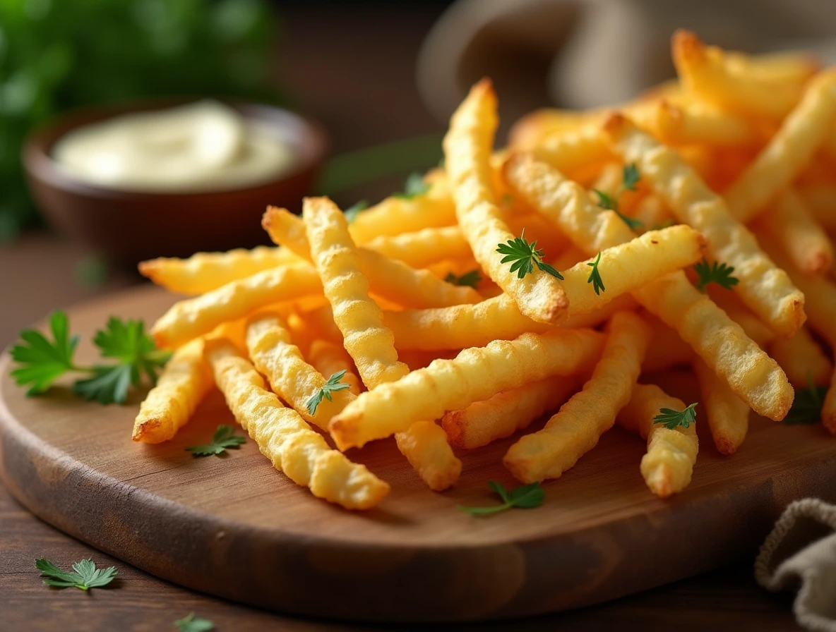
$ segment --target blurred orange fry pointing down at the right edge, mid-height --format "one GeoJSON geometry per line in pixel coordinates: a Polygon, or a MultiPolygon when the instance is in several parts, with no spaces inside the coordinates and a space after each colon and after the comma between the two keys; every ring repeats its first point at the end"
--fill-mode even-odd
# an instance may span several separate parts
{"type": "Polygon", "coordinates": [[[757,229],[781,245],[793,264],[806,275],[822,274],[833,267],[833,243],[803,200],[792,189],[777,196],[757,217],[757,229]]]}

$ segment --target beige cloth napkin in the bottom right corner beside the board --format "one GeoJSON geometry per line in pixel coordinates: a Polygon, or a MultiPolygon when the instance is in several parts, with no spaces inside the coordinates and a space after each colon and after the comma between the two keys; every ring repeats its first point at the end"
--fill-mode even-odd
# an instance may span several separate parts
{"type": "Polygon", "coordinates": [[[790,504],[761,547],[755,579],[770,590],[797,588],[798,624],[836,632],[836,505],[815,498],[790,504]]]}

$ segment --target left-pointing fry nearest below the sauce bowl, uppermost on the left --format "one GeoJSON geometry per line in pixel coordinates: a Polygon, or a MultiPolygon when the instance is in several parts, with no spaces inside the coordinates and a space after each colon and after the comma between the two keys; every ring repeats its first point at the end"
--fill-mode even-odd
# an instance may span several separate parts
{"type": "Polygon", "coordinates": [[[262,245],[252,250],[198,252],[188,259],[160,257],[141,261],[139,269],[142,276],[158,286],[178,294],[195,295],[217,290],[262,270],[300,262],[287,248],[262,245]]]}

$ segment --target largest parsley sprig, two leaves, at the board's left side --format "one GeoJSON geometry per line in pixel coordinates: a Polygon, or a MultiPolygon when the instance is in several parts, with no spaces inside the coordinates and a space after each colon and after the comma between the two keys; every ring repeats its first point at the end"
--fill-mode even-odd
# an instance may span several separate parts
{"type": "Polygon", "coordinates": [[[140,385],[143,374],[154,384],[157,372],[171,357],[170,352],[155,347],[153,338],[145,333],[145,323],[111,317],[104,329],[96,332],[93,344],[103,358],[117,362],[79,367],[73,359],[79,336],[69,335],[64,311],[49,316],[49,330],[52,340],[40,331],[25,329],[20,332],[22,342],[12,347],[12,359],[19,365],[12,377],[18,386],[29,387],[30,396],[43,393],[64,374],[77,372],[89,377],[74,382],[76,394],[101,404],[123,403],[129,388],[140,385]]]}

